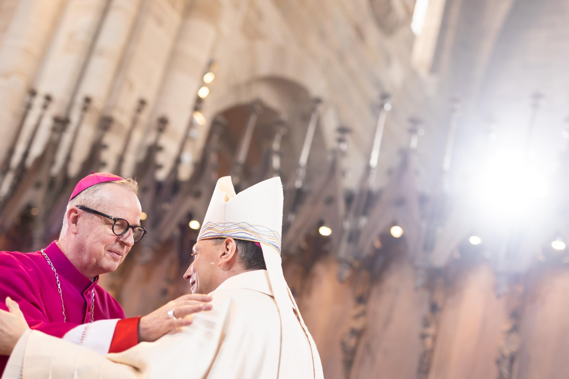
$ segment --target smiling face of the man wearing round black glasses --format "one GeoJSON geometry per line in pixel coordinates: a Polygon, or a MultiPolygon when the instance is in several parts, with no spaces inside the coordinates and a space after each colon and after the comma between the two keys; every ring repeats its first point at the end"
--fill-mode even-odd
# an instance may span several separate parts
{"type": "MultiPolygon", "coordinates": [[[[90,207],[101,213],[123,218],[130,225],[140,224],[141,205],[137,195],[123,186],[104,184],[100,200],[90,207]]],[[[75,206],[69,207],[67,218],[68,226],[74,232],[74,243],[73,251],[65,253],[73,265],[87,277],[113,272],[133,247],[133,230],[129,228],[125,234],[115,235],[112,219],[80,210],[75,206]]]]}

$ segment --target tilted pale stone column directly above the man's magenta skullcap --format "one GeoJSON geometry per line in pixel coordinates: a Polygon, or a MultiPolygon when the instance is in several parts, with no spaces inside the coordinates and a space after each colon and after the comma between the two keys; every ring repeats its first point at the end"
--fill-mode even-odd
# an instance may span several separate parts
{"type": "MultiPolygon", "coordinates": [[[[109,147],[105,157],[107,167],[116,165],[139,99],[145,99],[150,109],[156,101],[186,3],[187,0],[143,0],[141,3],[140,15],[126,47],[125,59],[114,78],[103,111],[114,120],[112,130],[105,135],[104,140],[109,147]]],[[[137,151],[136,146],[144,136],[146,124],[150,122],[152,125],[155,121],[155,118],[149,119],[147,112],[139,116],[139,127],[133,131],[122,174],[130,174],[134,169],[135,156],[143,153],[137,151]]],[[[76,157],[78,159],[79,155],[76,157]]]]}

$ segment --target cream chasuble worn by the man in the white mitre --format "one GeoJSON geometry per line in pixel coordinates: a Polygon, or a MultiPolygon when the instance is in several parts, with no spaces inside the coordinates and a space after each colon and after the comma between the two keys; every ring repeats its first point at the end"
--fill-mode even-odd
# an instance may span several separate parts
{"type": "MultiPolygon", "coordinates": [[[[28,331],[2,378],[277,378],[281,321],[266,270],[231,277],[211,295],[213,309],[195,314],[190,326],[106,356],[28,331]]],[[[311,378],[300,325],[291,337],[298,349],[287,364],[295,366],[295,378],[311,378]]]]}

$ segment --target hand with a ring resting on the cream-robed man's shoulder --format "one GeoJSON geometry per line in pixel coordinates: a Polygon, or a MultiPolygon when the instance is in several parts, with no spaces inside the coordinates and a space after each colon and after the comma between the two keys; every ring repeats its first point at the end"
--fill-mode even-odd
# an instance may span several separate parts
{"type": "Polygon", "coordinates": [[[208,295],[188,294],[167,302],[166,305],[141,318],[138,324],[138,340],[153,342],[175,328],[191,324],[192,319],[185,316],[211,310],[212,305],[207,304],[211,300],[211,296],[208,295]],[[171,311],[171,314],[168,314],[168,311],[171,311]]]}

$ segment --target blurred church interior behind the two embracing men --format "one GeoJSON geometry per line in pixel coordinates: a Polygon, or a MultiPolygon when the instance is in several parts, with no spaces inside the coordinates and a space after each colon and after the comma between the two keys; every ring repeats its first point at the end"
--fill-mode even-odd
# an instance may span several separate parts
{"type": "Polygon", "coordinates": [[[186,293],[217,178],[281,176],[325,377],[567,378],[566,0],[0,0],[0,249],[90,170],[149,234],[102,285],[186,293]]]}

